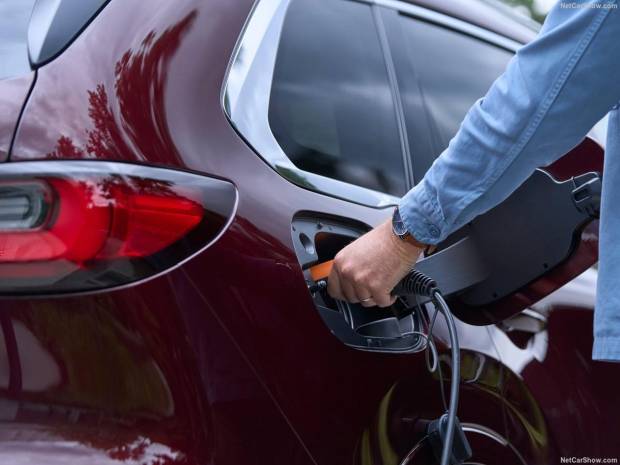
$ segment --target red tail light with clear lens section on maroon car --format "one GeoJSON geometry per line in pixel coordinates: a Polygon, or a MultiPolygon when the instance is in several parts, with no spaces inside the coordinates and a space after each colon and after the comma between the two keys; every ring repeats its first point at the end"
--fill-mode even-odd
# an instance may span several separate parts
{"type": "Polygon", "coordinates": [[[236,189],[107,162],[0,165],[0,293],[87,291],[158,274],[206,247],[236,189]]]}

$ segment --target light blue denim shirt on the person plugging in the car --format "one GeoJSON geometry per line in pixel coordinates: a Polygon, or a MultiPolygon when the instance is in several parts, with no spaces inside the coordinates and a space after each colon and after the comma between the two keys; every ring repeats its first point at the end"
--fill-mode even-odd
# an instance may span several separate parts
{"type": "Polygon", "coordinates": [[[418,240],[436,244],[575,147],[610,112],[594,316],[596,360],[620,361],[620,8],[559,2],[468,112],[448,148],[400,202],[418,240]]]}

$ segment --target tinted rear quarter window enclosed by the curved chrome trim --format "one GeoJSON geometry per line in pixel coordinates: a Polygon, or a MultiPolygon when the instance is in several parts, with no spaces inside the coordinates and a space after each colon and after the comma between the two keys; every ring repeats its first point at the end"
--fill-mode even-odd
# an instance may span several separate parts
{"type": "Polygon", "coordinates": [[[394,103],[367,5],[291,2],[269,122],[297,167],[394,195],[405,192],[394,103]]]}

